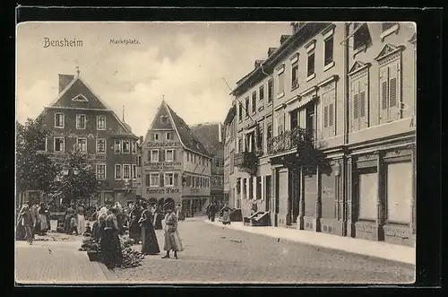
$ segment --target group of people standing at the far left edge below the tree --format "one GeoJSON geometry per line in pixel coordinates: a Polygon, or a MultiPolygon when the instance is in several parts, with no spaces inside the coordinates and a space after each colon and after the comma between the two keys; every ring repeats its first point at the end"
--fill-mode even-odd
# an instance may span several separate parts
{"type": "Polygon", "coordinates": [[[32,244],[35,234],[45,235],[50,229],[47,205],[25,202],[17,215],[16,238],[32,244]]]}

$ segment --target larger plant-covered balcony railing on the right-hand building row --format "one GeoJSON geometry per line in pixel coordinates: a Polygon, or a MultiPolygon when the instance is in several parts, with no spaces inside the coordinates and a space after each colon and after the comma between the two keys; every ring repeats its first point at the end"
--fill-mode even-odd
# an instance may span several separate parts
{"type": "Polygon", "coordinates": [[[268,153],[281,153],[294,148],[309,147],[314,143],[314,132],[295,127],[268,140],[268,153]]]}

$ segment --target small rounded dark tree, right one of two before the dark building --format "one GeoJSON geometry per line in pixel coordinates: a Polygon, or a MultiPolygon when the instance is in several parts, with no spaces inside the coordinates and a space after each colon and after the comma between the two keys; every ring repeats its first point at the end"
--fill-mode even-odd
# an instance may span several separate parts
{"type": "Polygon", "coordinates": [[[95,168],[79,149],[70,150],[59,166],[61,171],[56,178],[59,185],[56,197],[62,198],[64,205],[90,197],[99,189],[95,168]]]}

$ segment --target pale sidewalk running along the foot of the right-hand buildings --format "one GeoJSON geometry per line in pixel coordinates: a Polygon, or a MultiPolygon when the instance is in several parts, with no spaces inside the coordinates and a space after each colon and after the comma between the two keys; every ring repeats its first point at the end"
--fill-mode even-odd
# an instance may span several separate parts
{"type": "Polygon", "coordinates": [[[291,240],[304,244],[309,244],[326,249],[337,249],[352,254],[364,255],[374,258],[384,258],[392,261],[416,264],[416,249],[401,245],[385,243],[381,241],[360,240],[349,237],[342,237],[322,232],[304,231],[279,227],[252,227],[245,226],[242,222],[232,222],[229,225],[223,225],[220,222],[210,222],[216,226],[226,227],[238,231],[247,231],[254,234],[291,240]]]}

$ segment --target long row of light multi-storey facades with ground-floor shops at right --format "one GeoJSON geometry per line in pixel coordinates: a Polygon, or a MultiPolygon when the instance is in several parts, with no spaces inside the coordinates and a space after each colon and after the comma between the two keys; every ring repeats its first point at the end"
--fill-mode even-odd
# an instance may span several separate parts
{"type": "Polygon", "coordinates": [[[273,225],[413,245],[414,25],[292,27],[232,92],[243,214],[269,212],[273,225]]]}

